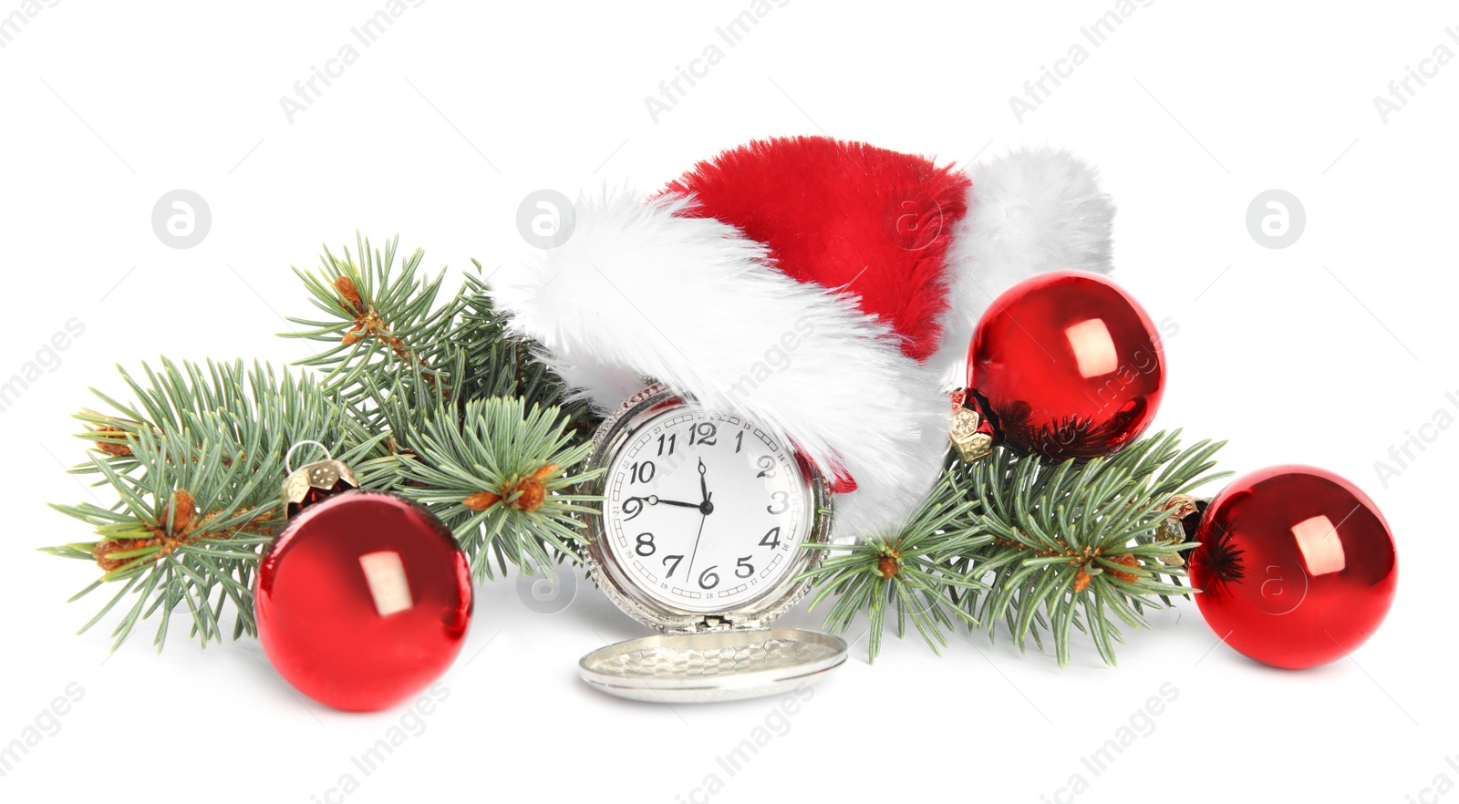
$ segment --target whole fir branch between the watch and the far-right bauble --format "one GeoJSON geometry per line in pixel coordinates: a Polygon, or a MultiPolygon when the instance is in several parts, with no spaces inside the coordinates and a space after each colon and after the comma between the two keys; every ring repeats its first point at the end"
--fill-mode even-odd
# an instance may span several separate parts
{"type": "Polygon", "coordinates": [[[872,660],[894,607],[897,636],[910,620],[934,651],[956,622],[989,638],[1002,622],[1020,649],[1049,638],[1061,665],[1072,629],[1087,632],[1113,664],[1116,622],[1148,627],[1145,607],[1188,591],[1172,563],[1195,544],[1167,537],[1172,498],[1226,474],[1210,473],[1221,444],[1182,449],[1177,439],[1160,433],[1088,463],[1049,464],[1005,448],[953,461],[897,533],[807,544],[842,552],[804,575],[818,587],[811,607],[835,595],[826,627],[842,633],[865,611],[872,660]]]}

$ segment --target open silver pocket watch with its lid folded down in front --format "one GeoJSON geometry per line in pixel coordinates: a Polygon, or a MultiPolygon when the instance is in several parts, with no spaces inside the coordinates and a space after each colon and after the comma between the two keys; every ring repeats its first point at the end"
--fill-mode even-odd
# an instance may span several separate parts
{"type": "Polygon", "coordinates": [[[587,563],[598,587],[659,635],[579,662],[594,687],[636,700],[772,695],[846,660],[846,642],[772,627],[810,590],[832,503],[814,464],[754,422],[649,385],[598,428],[587,563]]]}

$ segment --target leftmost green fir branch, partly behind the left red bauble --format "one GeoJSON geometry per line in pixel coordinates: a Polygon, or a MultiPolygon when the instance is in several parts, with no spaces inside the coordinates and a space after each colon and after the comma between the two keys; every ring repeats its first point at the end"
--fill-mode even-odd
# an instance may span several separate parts
{"type": "Polygon", "coordinates": [[[283,455],[295,442],[338,445],[346,461],[381,452],[378,436],[306,379],[242,360],[162,371],[143,366],[146,381],[121,371],[136,401],[118,403],[96,391],[111,411],[83,410],[92,429],[82,438],[99,444],[73,471],[96,474],[117,502],[54,505],[96,530],[95,541],[44,549],[95,562],[101,576],[71,600],[104,584],[120,590],[82,630],[95,626],[128,594],[112,630],[114,648],[136,625],[160,616],[153,642],[166,639],[172,613],[185,606],[193,636],[222,641],[223,608],[232,603],[232,635],[252,635],[252,579],[260,547],[283,527],[279,484],[283,455]]]}

